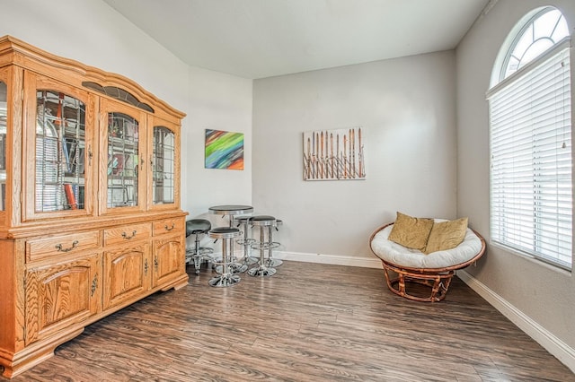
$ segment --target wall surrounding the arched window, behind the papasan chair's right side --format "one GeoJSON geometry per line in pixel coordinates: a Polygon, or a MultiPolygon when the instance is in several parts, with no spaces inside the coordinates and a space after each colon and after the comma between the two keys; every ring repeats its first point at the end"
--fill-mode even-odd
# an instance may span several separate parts
{"type": "MultiPolygon", "coordinates": [[[[575,30],[575,2],[500,0],[456,50],[457,212],[469,216],[489,242],[489,122],[485,93],[491,70],[509,31],[529,11],[555,5],[575,30]]],[[[572,46],[572,42],[571,42],[572,46]]],[[[571,48],[571,82],[575,70],[571,48]]],[[[575,90],[575,86],[572,87],[575,90]]],[[[572,91],[575,96],[575,91],[572,91]]],[[[492,245],[470,280],[529,334],[575,370],[575,280],[571,273],[542,265],[492,245]]]]}

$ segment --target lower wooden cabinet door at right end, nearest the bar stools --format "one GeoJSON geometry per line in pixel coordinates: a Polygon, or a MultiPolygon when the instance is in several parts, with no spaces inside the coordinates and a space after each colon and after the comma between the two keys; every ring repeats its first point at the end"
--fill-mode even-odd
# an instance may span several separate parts
{"type": "Polygon", "coordinates": [[[184,240],[180,235],[154,240],[153,288],[185,273],[184,252],[184,240]]]}

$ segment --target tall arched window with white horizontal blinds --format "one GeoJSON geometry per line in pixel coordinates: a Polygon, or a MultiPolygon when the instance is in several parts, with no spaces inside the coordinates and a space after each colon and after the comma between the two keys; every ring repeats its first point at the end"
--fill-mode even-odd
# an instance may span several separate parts
{"type": "Polygon", "coordinates": [[[491,240],[571,270],[570,35],[562,13],[526,15],[493,67],[491,240]]]}

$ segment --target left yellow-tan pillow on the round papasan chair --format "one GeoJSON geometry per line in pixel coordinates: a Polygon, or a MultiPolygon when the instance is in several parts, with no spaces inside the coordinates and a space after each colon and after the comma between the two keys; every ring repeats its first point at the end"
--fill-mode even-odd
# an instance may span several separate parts
{"type": "Polygon", "coordinates": [[[433,219],[412,218],[403,213],[397,213],[394,227],[387,239],[403,247],[423,251],[428,242],[431,227],[433,227],[433,219]]]}

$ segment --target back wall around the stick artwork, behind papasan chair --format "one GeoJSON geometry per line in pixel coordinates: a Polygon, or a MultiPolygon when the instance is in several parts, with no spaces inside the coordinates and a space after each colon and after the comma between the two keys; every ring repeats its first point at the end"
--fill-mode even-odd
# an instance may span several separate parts
{"type": "Polygon", "coordinates": [[[253,205],[284,221],[284,256],[380,266],[367,241],[395,212],[456,217],[455,53],[253,84],[253,205]],[[303,132],[362,126],[366,180],[303,180],[303,132]]]}

